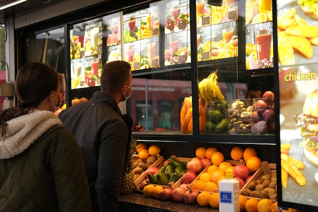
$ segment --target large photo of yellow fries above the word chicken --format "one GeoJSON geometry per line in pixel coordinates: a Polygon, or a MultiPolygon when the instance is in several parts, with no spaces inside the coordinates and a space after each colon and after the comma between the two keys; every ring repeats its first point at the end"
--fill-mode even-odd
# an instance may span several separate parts
{"type": "Polygon", "coordinates": [[[295,54],[311,59],[313,46],[318,46],[318,26],[307,24],[296,9],[291,8],[277,16],[277,45],[282,66],[295,65],[295,54]]]}

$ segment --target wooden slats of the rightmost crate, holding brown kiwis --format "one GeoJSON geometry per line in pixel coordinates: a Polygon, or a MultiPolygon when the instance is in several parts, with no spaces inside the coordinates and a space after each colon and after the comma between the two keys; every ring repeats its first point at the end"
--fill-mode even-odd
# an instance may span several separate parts
{"type": "MultiPolygon", "coordinates": [[[[276,172],[276,164],[275,163],[268,163],[267,161],[262,162],[262,166],[261,168],[259,168],[259,170],[257,170],[252,177],[247,181],[247,183],[243,186],[243,188],[241,189],[241,191],[245,188],[247,188],[248,184],[251,181],[256,181],[257,179],[259,179],[261,176],[265,175],[265,174],[273,174],[276,172]]],[[[256,198],[258,200],[261,200],[261,198],[257,198],[257,197],[249,197],[246,196],[247,199],[250,198],[256,198]]],[[[277,201],[277,194],[272,195],[269,197],[273,202],[277,201]]]]}

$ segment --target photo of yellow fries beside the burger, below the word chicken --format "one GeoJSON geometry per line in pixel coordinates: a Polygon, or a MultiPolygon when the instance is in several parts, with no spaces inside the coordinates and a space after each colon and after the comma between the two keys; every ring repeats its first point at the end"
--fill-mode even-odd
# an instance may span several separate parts
{"type": "Polygon", "coordinates": [[[305,168],[302,161],[289,156],[290,143],[280,145],[281,186],[287,188],[288,176],[291,176],[299,186],[305,186],[307,180],[301,172],[305,168]]]}

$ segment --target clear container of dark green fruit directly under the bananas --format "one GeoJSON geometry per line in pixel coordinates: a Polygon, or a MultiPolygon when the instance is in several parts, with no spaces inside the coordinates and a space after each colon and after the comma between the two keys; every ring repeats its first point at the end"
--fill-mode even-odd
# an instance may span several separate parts
{"type": "Polygon", "coordinates": [[[228,134],[228,102],[215,100],[206,102],[204,106],[206,123],[204,133],[228,134]]]}

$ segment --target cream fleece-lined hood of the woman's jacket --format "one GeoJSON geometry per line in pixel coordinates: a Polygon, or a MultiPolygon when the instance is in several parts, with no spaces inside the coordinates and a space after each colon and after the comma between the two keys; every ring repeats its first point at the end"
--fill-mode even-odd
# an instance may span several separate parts
{"type": "Polygon", "coordinates": [[[32,111],[9,120],[7,124],[6,134],[0,137],[0,159],[19,155],[49,128],[62,125],[54,113],[46,110],[32,111]]]}

